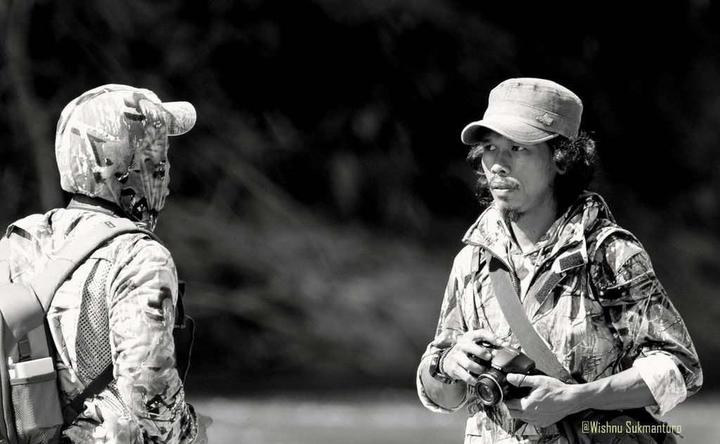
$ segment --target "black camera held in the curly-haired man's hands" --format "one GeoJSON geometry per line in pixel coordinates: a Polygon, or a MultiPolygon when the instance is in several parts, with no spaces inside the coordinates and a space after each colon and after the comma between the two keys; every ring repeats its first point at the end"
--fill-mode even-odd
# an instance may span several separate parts
{"type": "Polygon", "coordinates": [[[513,386],[505,377],[508,373],[541,374],[539,370],[536,370],[534,360],[515,347],[498,347],[485,341],[478,342],[478,344],[485,347],[492,355],[489,361],[469,355],[470,359],[485,367],[485,371],[480,375],[473,374],[477,378],[474,390],[480,402],[487,406],[493,406],[502,402],[503,399],[526,396],[530,392],[528,387],[513,386]]]}

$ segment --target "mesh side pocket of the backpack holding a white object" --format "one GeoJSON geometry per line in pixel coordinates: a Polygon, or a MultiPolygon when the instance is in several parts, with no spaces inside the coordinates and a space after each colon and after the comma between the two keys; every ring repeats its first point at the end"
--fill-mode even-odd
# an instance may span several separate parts
{"type": "Polygon", "coordinates": [[[55,372],[17,378],[10,385],[19,443],[56,443],[63,414],[55,372]]]}

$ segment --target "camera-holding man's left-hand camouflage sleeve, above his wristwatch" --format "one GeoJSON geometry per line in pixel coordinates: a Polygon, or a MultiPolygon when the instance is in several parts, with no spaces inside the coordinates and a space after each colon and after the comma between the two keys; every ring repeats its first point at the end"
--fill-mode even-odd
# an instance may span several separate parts
{"type": "Polygon", "coordinates": [[[462,402],[456,407],[442,407],[433,399],[430,388],[423,386],[420,372],[428,371],[433,353],[451,347],[459,335],[467,332],[467,324],[462,315],[462,300],[466,286],[466,278],[469,278],[471,275],[469,268],[472,257],[473,248],[465,247],[455,258],[448,284],[445,288],[435,337],[433,341],[428,344],[428,347],[426,347],[423,357],[420,359],[420,365],[418,366],[418,373],[415,378],[418,396],[420,396],[420,401],[422,401],[423,405],[433,412],[454,412],[462,408],[468,399],[466,391],[464,399],[462,399],[462,402]]]}

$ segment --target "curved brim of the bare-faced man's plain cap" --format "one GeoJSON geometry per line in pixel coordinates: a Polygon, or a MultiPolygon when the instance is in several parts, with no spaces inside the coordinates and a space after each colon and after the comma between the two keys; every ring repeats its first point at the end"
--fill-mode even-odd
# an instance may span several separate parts
{"type": "Polygon", "coordinates": [[[500,136],[505,136],[511,141],[523,145],[536,145],[558,136],[557,133],[550,133],[520,120],[505,117],[501,119],[483,119],[469,123],[463,128],[460,139],[466,145],[473,145],[481,141],[487,130],[493,130],[500,136]]]}

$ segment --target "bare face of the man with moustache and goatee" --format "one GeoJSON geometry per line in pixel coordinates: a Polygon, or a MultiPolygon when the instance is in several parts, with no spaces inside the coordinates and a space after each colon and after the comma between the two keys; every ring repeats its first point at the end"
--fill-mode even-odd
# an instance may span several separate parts
{"type": "Polygon", "coordinates": [[[552,184],[558,169],[547,143],[522,145],[488,131],[480,146],[492,198],[510,220],[554,205],[552,184]]]}

